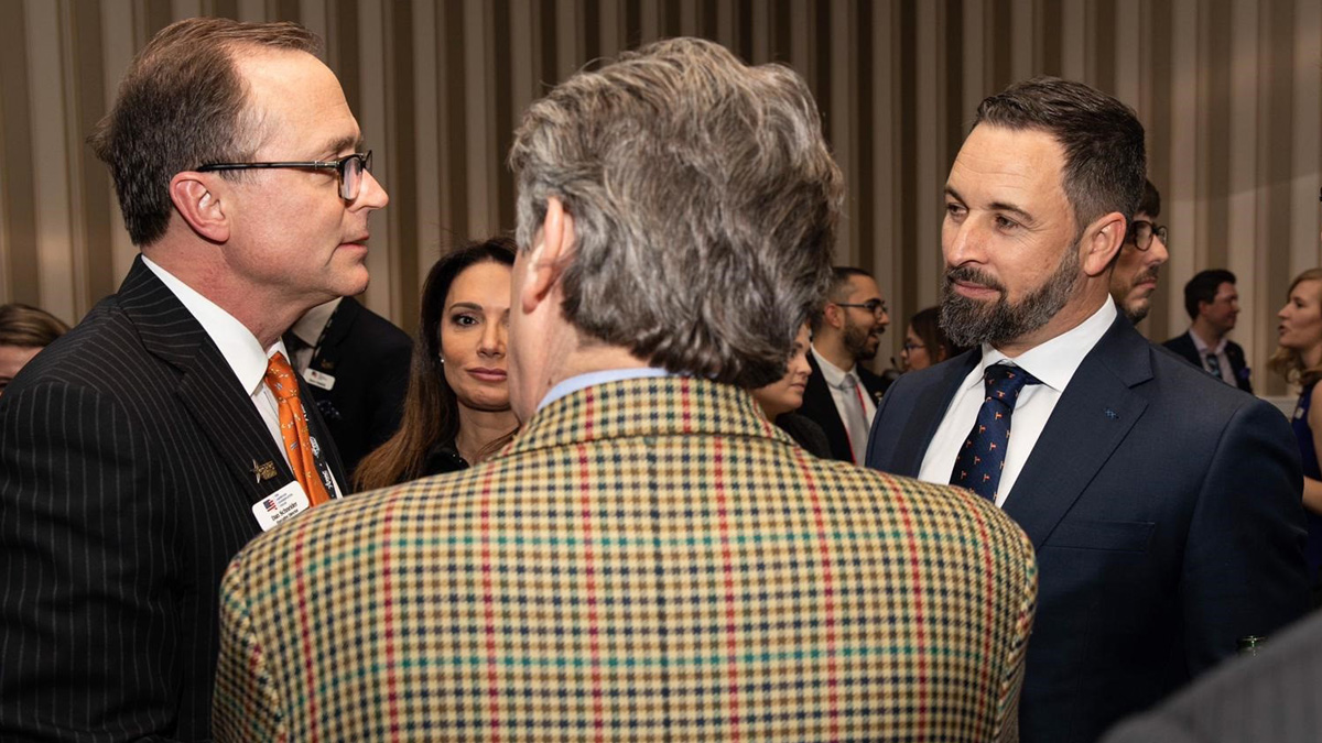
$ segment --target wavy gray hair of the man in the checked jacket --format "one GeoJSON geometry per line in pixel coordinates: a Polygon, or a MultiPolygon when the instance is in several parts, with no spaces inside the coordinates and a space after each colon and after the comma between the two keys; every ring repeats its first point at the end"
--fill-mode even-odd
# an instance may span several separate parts
{"type": "Polygon", "coordinates": [[[744,387],[785,373],[830,286],[843,194],[798,74],[674,38],[579,71],[514,135],[518,245],[574,217],[562,288],[582,333],[744,387]]]}

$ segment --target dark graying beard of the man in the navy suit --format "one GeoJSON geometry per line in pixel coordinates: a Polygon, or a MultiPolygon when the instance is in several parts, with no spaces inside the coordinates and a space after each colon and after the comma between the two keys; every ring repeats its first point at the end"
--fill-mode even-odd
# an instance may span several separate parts
{"type": "Polygon", "coordinates": [[[966,348],[980,344],[999,346],[1022,338],[1046,325],[1069,301],[1081,278],[1079,268],[1079,249],[1071,246],[1046,283],[1018,304],[1006,300],[1003,284],[977,268],[951,268],[941,284],[941,329],[951,342],[966,348]],[[969,299],[956,293],[957,280],[982,284],[997,290],[1001,296],[993,303],[969,299]]]}

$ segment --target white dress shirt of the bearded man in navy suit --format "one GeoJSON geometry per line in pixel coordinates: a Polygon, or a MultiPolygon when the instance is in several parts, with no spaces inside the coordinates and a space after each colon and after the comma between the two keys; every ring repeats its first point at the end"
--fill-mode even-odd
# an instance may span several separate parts
{"type": "Polygon", "coordinates": [[[986,398],[982,374],[988,366],[1009,361],[1032,374],[1042,383],[1025,386],[1014,406],[1014,415],[1010,419],[1010,431],[1014,435],[1010,436],[1010,444],[1006,447],[1005,469],[1001,471],[1001,487],[995,500],[997,506],[1003,505],[1005,498],[1014,488],[1014,481],[1023,469],[1023,463],[1029,460],[1042,430],[1046,428],[1051,411],[1056,409],[1060,394],[1073,378],[1079,365],[1083,364],[1083,358],[1110,329],[1114,319],[1116,304],[1108,296],[1107,301],[1087,320],[1015,358],[1009,358],[999,350],[982,344],[982,358],[954,393],[954,399],[945,410],[945,418],[941,419],[932,443],[927,447],[917,479],[941,484],[951,481],[954,459],[958,456],[964,440],[969,436],[969,430],[973,428],[973,423],[978,418],[978,409],[982,407],[986,398]]]}

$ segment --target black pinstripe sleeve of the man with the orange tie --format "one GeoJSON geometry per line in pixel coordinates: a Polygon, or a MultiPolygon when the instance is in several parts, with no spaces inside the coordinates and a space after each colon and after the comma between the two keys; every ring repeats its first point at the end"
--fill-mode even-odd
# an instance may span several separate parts
{"type": "Polygon", "coordinates": [[[123,409],[0,398],[0,739],[161,740],[181,658],[169,514],[123,409]]]}

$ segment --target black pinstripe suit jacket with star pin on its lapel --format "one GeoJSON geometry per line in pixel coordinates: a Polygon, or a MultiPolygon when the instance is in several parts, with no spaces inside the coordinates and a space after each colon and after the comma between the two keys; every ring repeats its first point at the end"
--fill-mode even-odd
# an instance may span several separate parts
{"type": "Polygon", "coordinates": [[[260,531],[253,504],[292,479],[136,260],[0,397],[0,740],[206,739],[221,574],[260,531]]]}

